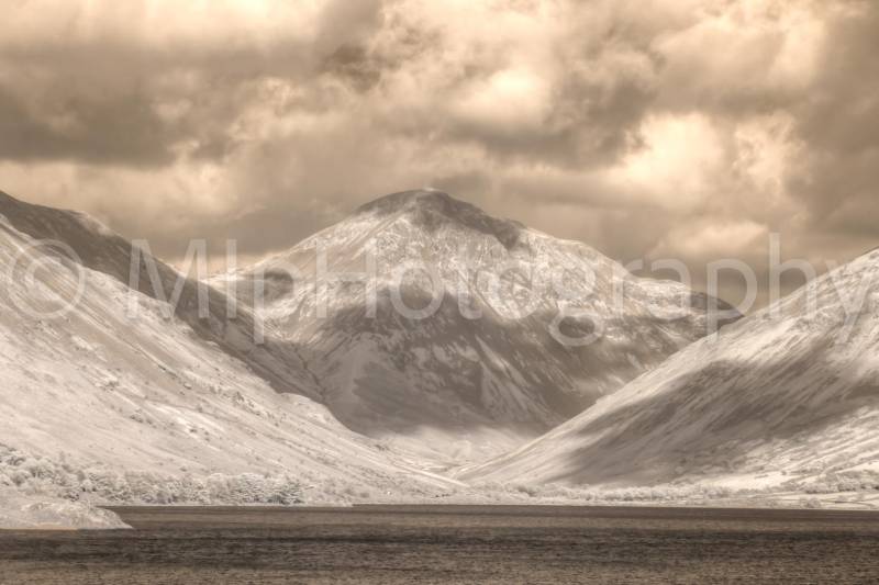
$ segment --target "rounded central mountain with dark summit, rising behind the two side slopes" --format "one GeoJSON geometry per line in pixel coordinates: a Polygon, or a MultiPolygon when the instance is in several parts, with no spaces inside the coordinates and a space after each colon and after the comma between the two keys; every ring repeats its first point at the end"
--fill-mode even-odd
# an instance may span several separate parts
{"type": "Polygon", "coordinates": [[[265,299],[255,311],[299,348],[346,426],[448,461],[497,454],[579,414],[705,335],[709,306],[433,190],[376,200],[212,283],[265,299]],[[563,342],[590,334],[598,340],[563,342]]]}

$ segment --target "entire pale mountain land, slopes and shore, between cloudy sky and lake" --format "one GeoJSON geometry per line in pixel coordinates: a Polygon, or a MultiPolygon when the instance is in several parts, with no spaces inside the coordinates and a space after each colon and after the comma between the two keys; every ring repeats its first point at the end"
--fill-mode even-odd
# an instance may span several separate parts
{"type": "Polygon", "coordinates": [[[879,252],[743,317],[431,190],[201,281],[80,213],[0,217],[0,525],[879,485],[879,252]]]}

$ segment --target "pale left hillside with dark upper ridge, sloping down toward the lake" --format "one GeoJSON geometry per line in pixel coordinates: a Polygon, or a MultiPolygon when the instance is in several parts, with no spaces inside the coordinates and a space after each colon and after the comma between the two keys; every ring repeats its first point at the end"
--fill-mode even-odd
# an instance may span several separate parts
{"type": "MultiPolygon", "coordinates": [[[[165,318],[146,263],[140,291],[129,288],[131,255],[81,214],[0,193],[0,486],[60,474],[85,490],[98,481],[88,469],[104,479],[289,475],[330,498],[331,484],[336,495],[448,485],[311,400],[318,392],[296,348],[255,344],[253,316],[226,318],[222,293],[209,291],[201,318],[198,284],[187,281],[176,318],[165,318]],[[45,239],[79,259],[37,245],[45,239]],[[29,267],[40,268],[29,275],[29,267]],[[74,310],[48,318],[80,283],[74,310]]],[[[180,275],[156,266],[170,296],[180,275]]]]}

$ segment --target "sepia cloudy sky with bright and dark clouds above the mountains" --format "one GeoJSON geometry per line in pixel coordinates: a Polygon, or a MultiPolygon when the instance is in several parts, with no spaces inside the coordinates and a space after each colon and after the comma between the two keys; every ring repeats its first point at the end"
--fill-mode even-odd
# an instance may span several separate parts
{"type": "Polygon", "coordinates": [[[879,245],[877,55],[874,0],[5,0],[0,190],[171,260],[435,187],[697,283],[823,266],[879,245]]]}

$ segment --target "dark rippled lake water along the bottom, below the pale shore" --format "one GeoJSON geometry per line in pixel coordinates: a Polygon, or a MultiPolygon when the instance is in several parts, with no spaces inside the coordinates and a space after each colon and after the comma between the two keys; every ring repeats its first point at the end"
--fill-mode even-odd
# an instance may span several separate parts
{"type": "Polygon", "coordinates": [[[0,583],[879,583],[865,511],[114,510],[135,530],[0,531],[0,583]]]}

